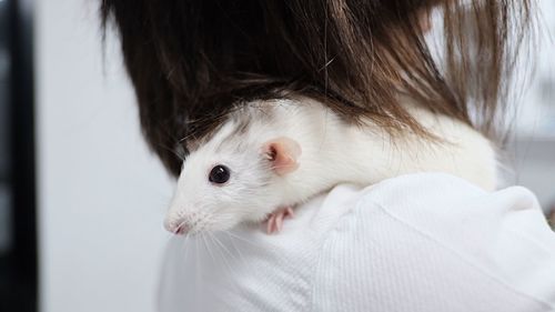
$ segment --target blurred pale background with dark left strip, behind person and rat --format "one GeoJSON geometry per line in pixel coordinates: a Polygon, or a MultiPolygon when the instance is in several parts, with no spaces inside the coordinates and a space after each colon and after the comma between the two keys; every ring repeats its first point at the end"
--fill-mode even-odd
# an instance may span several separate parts
{"type": "MultiPolygon", "coordinates": [[[[0,311],[155,311],[173,189],[99,0],[0,0],[0,311]]],[[[504,157],[555,209],[555,2],[504,157]]],[[[523,85],[524,87],[524,85],[523,85]]]]}

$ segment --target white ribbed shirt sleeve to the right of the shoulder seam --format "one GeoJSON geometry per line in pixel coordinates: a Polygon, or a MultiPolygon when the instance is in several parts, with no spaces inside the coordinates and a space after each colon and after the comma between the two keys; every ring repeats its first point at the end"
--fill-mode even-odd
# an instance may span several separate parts
{"type": "MultiPolygon", "coordinates": [[[[555,309],[547,278],[555,276],[555,234],[528,190],[486,192],[453,175],[417,173],[351,199],[322,238],[316,293],[333,293],[337,281],[350,293],[372,290],[372,300],[354,301],[365,311],[411,311],[423,300],[426,311],[555,309]]],[[[339,301],[322,298],[319,308],[339,301]]]]}

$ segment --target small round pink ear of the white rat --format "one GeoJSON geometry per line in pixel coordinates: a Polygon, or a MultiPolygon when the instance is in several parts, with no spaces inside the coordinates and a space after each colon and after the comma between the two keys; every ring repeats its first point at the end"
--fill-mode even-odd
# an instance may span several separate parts
{"type": "Polygon", "coordinates": [[[290,138],[270,140],[262,147],[264,157],[272,162],[275,173],[283,175],[299,168],[297,159],[301,155],[301,145],[290,138]]]}

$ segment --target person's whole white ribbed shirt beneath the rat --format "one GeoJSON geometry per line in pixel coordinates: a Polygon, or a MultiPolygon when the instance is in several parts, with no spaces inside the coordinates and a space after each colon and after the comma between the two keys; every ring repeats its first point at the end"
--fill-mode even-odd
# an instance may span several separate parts
{"type": "Polygon", "coordinates": [[[555,233],[534,194],[443,173],[339,185],[262,225],[173,238],[159,309],[555,311],[555,233]]]}

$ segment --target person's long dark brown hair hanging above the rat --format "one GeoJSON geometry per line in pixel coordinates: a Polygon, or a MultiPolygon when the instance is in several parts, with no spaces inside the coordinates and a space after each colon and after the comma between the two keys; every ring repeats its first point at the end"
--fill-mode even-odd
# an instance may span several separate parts
{"type": "Polygon", "coordinates": [[[214,129],[234,104],[289,92],[349,122],[426,135],[398,104],[491,132],[506,100],[527,0],[102,0],[134,84],[143,133],[173,174],[175,147],[214,129]],[[443,57],[424,39],[443,17],[443,57]],[[424,22],[423,22],[424,21],[424,22]],[[512,40],[514,39],[514,40],[512,40]],[[511,46],[511,47],[508,47],[511,46]],[[472,104],[471,104],[472,103],[472,104]],[[184,140],[186,141],[186,140],[184,140]]]}

